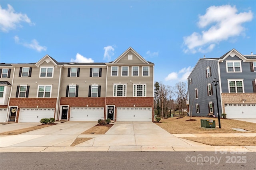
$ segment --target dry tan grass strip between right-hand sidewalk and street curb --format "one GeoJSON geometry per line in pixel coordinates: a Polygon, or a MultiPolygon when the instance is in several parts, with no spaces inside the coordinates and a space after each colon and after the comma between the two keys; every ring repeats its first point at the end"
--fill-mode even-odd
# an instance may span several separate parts
{"type": "Polygon", "coordinates": [[[211,146],[256,146],[256,137],[182,137],[211,146]]]}

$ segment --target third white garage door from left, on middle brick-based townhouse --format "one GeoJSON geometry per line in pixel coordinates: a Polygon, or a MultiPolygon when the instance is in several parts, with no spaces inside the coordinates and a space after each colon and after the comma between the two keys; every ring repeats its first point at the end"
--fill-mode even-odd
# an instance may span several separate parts
{"type": "Polygon", "coordinates": [[[71,107],[70,121],[98,121],[104,119],[104,107],[71,107]]]}

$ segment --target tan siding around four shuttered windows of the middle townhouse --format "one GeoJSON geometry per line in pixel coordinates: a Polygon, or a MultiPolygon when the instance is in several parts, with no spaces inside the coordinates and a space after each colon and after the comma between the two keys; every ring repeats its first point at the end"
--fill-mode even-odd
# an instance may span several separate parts
{"type": "Polygon", "coordinates": [[[100,97],[105,97],[106,94],[106,72],[105,65],[102,66],[72,66],[70,68],[80,68],[79,77],[68,77],[68,67],[65,66],[62,70],[62,84],[60,86],[60,97],[66,97],[66,88],[70,84],[78,86],[78,97],[88,97],[89,86],[98,84],[101,86],[100,97]],[[90,77],[90,68],[102,68],[101,77],[90,77]],[[85,83],[86,82],[86,83],[85,83]]]}

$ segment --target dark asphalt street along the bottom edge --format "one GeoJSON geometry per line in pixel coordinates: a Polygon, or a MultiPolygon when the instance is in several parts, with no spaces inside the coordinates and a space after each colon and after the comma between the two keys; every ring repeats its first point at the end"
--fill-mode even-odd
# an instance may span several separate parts
{"type": "Polygon", "coordinates": [[[1,170],[249,170],[256,152],[12,152],[1,170]]]}

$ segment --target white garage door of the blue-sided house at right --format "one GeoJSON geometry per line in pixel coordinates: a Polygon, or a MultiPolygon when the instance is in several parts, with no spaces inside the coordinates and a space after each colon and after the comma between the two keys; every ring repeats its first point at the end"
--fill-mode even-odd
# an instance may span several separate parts
{"type": "Polygon", "coordinates": [[[225,104],[227,118],[256,118],[256,104],[225,104]]]}

